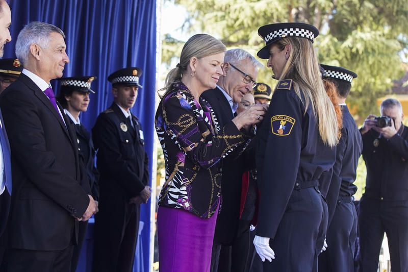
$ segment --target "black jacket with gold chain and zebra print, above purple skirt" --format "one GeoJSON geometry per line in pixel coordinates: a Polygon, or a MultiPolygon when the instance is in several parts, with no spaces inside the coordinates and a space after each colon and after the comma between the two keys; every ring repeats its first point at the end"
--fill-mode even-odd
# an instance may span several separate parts
{"type": "Polygon", "coordinates": [[[166,164],[159,205],[210,218],[220,200],[220,160],[246,137],[232,121],[220,128],[210,104],[202,97],[197,102],[182,83],[160,102],[156,131],[166,164]]]}

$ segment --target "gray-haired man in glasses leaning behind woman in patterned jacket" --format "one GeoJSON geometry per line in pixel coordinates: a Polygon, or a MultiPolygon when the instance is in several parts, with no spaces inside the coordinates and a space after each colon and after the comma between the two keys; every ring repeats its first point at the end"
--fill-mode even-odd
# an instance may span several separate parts
{"type": "MultiPolygon", "coordinates": [[[[219,79],[217,88],[202,94],[213,107],[221,127],[234,118],[241,98],[257,84],[259,66],[261,64],[242,49],[225,52],[224,76],[219,79]]],[[[240,220],[240,202],[242,174],[251,169],[249,162],[254,161],[254,157],[241,156],[238,149],[235,152],[235,156],[222,161],[222,204],[215,227],[213,272],[244,271],[248,259],[251,218],[240,220]]]]}

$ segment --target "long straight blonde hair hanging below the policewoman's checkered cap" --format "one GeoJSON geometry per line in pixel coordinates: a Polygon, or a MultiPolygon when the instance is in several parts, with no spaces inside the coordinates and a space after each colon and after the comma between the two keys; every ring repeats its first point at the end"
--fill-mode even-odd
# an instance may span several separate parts
{"type": "Polygon", "coordinates": [[[338,142],[336,112],[319,75],[319,62],[312,42],[305,38],[287,37],[276,41],[275,44],[281,51],[286,45],[291,46],[288,61],[279,80],[294,81],[293,87],[304,103],[305,111],[311,104],[318,121],[321,139],[328,146],[335,146],[338,142]]]}

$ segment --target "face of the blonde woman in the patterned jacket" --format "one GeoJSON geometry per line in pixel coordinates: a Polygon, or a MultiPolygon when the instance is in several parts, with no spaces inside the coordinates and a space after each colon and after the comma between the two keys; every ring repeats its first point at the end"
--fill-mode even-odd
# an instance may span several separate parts
{"type": "Polygon", "coordinates": [[[222,64],[224,62],[224,53],[196,59],[195,79],[200,89],[209,90],[214,89],[219,78],[222,76],[222,64]]]}

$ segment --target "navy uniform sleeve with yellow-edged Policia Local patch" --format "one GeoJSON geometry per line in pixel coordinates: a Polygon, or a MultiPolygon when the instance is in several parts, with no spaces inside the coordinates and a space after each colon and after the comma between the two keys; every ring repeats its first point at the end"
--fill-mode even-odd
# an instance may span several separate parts
{"type": "Polygon", "coordinates": [[[261,201],[257,235],[274,238],[296,182],[303,112],[293,91],[276,90],[271,101],[258,139],[261,201]]]}

